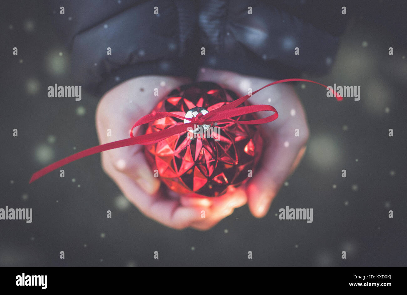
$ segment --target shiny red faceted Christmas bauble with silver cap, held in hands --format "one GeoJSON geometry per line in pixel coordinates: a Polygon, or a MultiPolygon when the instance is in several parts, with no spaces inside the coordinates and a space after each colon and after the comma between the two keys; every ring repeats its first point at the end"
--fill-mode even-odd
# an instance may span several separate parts
{"type": "MultiPolygon", "coordinates": [[[[206,114],[239,97],[221,86],[202,82],[173,90],[151,112],[171,112],[192,118],[206,114]]],[[[252,114],[233,117],[253,120],[252,114]]],[[[145,134],[189,123],[165,117],[150,122],[145,134]]],[[[220,196],[232,185],[241,185],[254,170],[263,148],[258,125],[219,122],[194,125],[183,134],[145,146],[145,155],[163,183],[179,194],[220,196]]]]}

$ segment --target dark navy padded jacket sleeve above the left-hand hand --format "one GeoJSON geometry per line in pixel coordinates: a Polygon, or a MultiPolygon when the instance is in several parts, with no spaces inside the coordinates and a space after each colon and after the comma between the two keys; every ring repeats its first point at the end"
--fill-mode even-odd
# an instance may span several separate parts
{"type": "Polygon", "coordinates": [[[188,76],[197,70],[188,48],[197,20],[193,1],[66,0],[50,5],[70,47],[76,82],[95,93],[139,75],[188,76]],[[64,15],[59,14],[62,6],[64,15]]]}

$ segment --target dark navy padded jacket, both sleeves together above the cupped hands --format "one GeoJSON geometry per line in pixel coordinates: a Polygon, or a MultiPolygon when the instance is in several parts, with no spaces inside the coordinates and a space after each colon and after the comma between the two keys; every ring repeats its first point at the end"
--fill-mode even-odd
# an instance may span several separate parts
{"type": "MultiPolygon", "coordinates": [[[[350,15],[359,18],[369,11],[366,1],[357,3],[60,0],[50,5],[71,48],[77,83],[101,94],[140,75],[193,77],[199,66],[270,79],[300,77],[304,72],[323,75],[334,62],[350,15]],[[61,6],[64,15],[58,13],[61,6]],[[106,54],[108,47],[112,55],[106,54]],[[299,55],[295,55],[297,47],[299,55]]],[[[372,12],[368,19],[383,23],[387,15],[387,23],[395,22],[392,14],[374,11],[376,15],[372,12]]],[[[405,23],[405,18],[400,19],[405,23]]]]}

